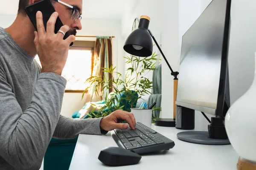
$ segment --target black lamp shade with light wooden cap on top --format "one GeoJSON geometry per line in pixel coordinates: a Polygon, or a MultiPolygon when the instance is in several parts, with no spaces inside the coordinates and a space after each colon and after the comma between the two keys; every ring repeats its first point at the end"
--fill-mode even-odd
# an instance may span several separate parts
{"type": "Polygon", "coordinates": [[[139,57],[148,57],[152,55],[153,42],[148,32],[150,18],[147,16],[140,17],[140,23],[126,39],[124,50],[131,55],[139,57]]]}

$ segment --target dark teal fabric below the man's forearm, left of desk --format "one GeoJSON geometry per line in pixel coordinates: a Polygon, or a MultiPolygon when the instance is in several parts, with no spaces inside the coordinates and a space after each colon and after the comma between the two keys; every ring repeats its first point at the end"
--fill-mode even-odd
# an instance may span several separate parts
{"type": "Polygon", "coordinates": [[[74,139],[52,138],[44,155],[44,170],[68,170],[78,137],[74,139]]]}

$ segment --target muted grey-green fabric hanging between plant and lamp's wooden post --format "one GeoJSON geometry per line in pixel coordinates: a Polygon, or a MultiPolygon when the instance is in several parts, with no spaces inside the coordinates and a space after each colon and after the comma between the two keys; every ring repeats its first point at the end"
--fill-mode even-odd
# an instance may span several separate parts
{"type": "MultiPolygon", "coordinates": [[[[162,65],[158,65],[156,70],[153,71],[153,88],[151,91],[151,95],[148,97],[148,105],[152,105],[154,102],[156,108],[161,107],[162,101],[162,65]]],[[[153,111],[154,117],[160,116],[160,111],[153,111]]]]}

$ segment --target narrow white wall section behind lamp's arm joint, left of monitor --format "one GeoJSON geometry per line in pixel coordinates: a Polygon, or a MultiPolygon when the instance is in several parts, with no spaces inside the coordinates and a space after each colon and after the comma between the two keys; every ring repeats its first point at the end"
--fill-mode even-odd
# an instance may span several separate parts
{"type": "MultiPolygon", "coordinates": [[[[179,46],[179,2],[161,0],[162,50],[172,69],[178,71],[179,46]]],[[[173,76],[165,61],[162,61],[162,117],[173,118],[173,76]]]]}

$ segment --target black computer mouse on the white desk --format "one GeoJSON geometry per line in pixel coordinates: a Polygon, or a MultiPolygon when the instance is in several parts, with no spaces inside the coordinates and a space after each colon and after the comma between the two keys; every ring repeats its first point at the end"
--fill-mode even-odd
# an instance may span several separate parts
{"type": "Polygon", "coordinates": [[[122,147],[106,147],[100,151],[98,159],[108,166],[123,166],[139,163],[141,156],[122,147]]]}

